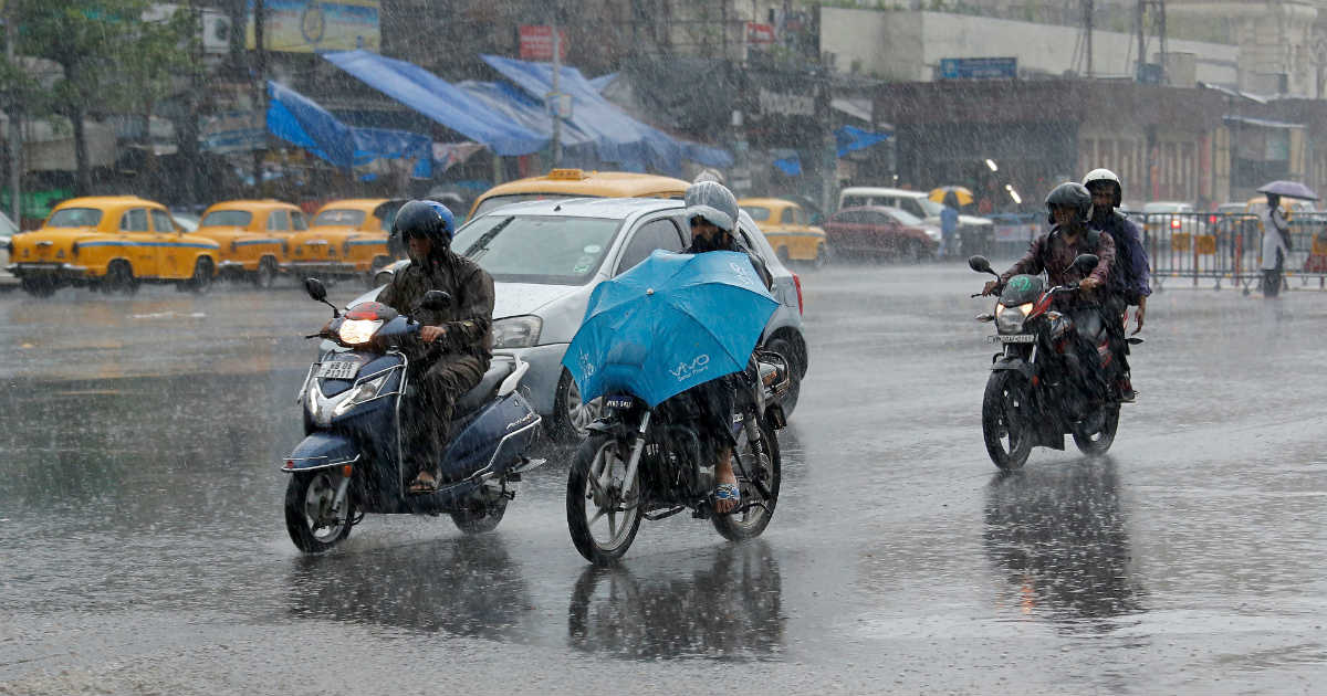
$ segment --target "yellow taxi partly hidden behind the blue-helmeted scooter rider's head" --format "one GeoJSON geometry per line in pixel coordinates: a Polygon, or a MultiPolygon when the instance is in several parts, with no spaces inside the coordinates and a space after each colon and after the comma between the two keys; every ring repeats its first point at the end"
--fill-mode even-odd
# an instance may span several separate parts
{"type": "Polygon", "coordinates": [[[291,236],[281,269],[299,277],[353,277],[372,281],[393,261],[387,232],[402,199],[333,200],[313,215],[305,232],[291,236]]]}

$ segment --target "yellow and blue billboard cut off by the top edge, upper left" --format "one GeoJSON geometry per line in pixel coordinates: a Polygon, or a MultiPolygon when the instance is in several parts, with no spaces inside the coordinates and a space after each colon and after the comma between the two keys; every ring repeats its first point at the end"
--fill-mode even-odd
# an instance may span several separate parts
{"type": "MultiPolygon", "coordinates": [[[[248,3],[245,46],[257,48],[248,3]]],[[[285,53],[378,50],[380,0],[264,0],[263,48],[285,53]]]]}

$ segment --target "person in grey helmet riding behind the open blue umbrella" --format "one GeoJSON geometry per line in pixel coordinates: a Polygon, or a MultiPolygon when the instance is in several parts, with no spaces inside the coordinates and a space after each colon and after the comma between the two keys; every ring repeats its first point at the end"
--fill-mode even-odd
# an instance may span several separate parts
{"type": "MultiPolygon", "coordinates": [[[[764,261],[739,241],[735,228],[738,223],[738,199],[733,191],[718,182],[705,180],[686,187],[686,217],[691,223],[691,245],[682,253],[738,252],[751,260],[766,288],[772,285],[772,276],[764,261]]],[[[747,369],[750,371],[751,362],[747,369]]],[[[736,509],[740,502],[740,489],[736,475],[733,473],[731,419],[735,407],[735,390],[751,388],[742,373],[725,375],[697,384],[682,395],[691,395],[701,410],[701,437],[713,448],[714,467],[714,512],[723,514],[736,509]]],[[[682,396],[678,395],[678,396],[682,396]]],[[[677,398],[677,396],[674,396],[677,398]]]]}

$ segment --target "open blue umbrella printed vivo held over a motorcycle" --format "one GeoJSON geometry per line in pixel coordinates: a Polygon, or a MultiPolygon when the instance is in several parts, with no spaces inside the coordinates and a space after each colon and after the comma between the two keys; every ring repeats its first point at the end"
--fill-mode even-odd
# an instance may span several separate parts
{"type": "Polygon", "coordinates": [[[746,367],[778,306],[746,255],[656,251],[594,288],[563,365],[587,402],[632,394],[653,408],[746,367]]]}

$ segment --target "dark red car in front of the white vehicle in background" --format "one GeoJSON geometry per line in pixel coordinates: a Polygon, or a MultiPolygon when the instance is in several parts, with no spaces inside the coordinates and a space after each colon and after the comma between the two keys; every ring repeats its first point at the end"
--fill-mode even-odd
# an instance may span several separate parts
{"type": "Polygon", "coordinates": [[[837,257],[888,257],[921,261],[940,249],[940,231],[888,205],[844,208],[829,216],[825,237],[837,257]]]}

